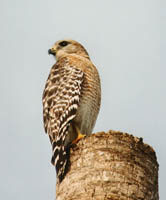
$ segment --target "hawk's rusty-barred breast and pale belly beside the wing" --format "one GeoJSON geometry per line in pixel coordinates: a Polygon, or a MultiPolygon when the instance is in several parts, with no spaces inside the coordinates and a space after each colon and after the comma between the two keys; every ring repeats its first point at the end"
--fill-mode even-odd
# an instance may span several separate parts
{"type": "Polygon", "coordinates": [[[80,102],[74,121],[81,133],[91,134],[100,109],[101,89],[97,69],[90,66],[84,71],[80,102]]]}

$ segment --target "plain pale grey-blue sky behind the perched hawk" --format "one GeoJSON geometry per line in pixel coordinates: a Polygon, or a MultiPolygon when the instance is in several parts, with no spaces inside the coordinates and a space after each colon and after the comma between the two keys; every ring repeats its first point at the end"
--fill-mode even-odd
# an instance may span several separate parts
{"type": "Polygon", "coordinates": [[[166,199],[164,4],[1,0],[0,199],[54,199],[41,98],[55,63],[47,51],[64,38],[83,44],[100,73],[102,106],[94,132],[113,129],[144,138],[157,153],[160,199],[166,199]]]}

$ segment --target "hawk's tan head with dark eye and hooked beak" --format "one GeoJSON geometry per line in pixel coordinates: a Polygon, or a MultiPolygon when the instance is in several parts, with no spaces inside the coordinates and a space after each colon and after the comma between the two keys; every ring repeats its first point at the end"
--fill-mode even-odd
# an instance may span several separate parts
{"type": "Polygon", "coordinates": [[[56,59],[66,56],[66,54],[76,54],[89,59],[86,49],[79,42],[74,40],[57,41],[52,48],[48,50],[48,54],[52,54],[56,59]]]}

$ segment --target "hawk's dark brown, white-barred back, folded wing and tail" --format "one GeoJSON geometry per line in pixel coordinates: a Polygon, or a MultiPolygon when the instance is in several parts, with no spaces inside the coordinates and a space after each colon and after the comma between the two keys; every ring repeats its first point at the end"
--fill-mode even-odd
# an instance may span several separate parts
{"type": "Polygon", "coordinates": [[[52,143],[52,164],[60,179],[67,165],[64,141],[70,121],[76,116],[83,75],[80,69],[61,60],[52,67],[43,92],[44,128],[52,143]]]}

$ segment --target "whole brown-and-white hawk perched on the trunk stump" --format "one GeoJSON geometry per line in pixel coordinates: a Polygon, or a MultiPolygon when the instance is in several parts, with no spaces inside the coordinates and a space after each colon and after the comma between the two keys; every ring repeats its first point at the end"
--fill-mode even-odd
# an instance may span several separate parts
{"type": "Polygon", "coordinates": [[[85,48],[73,40],[56,42],[56,57],[43,92],[45,132],[52,144],[52,164],[61,182],[69,165],[69,146],[92,133],[100,109],[101,87],[85,48]]]}

